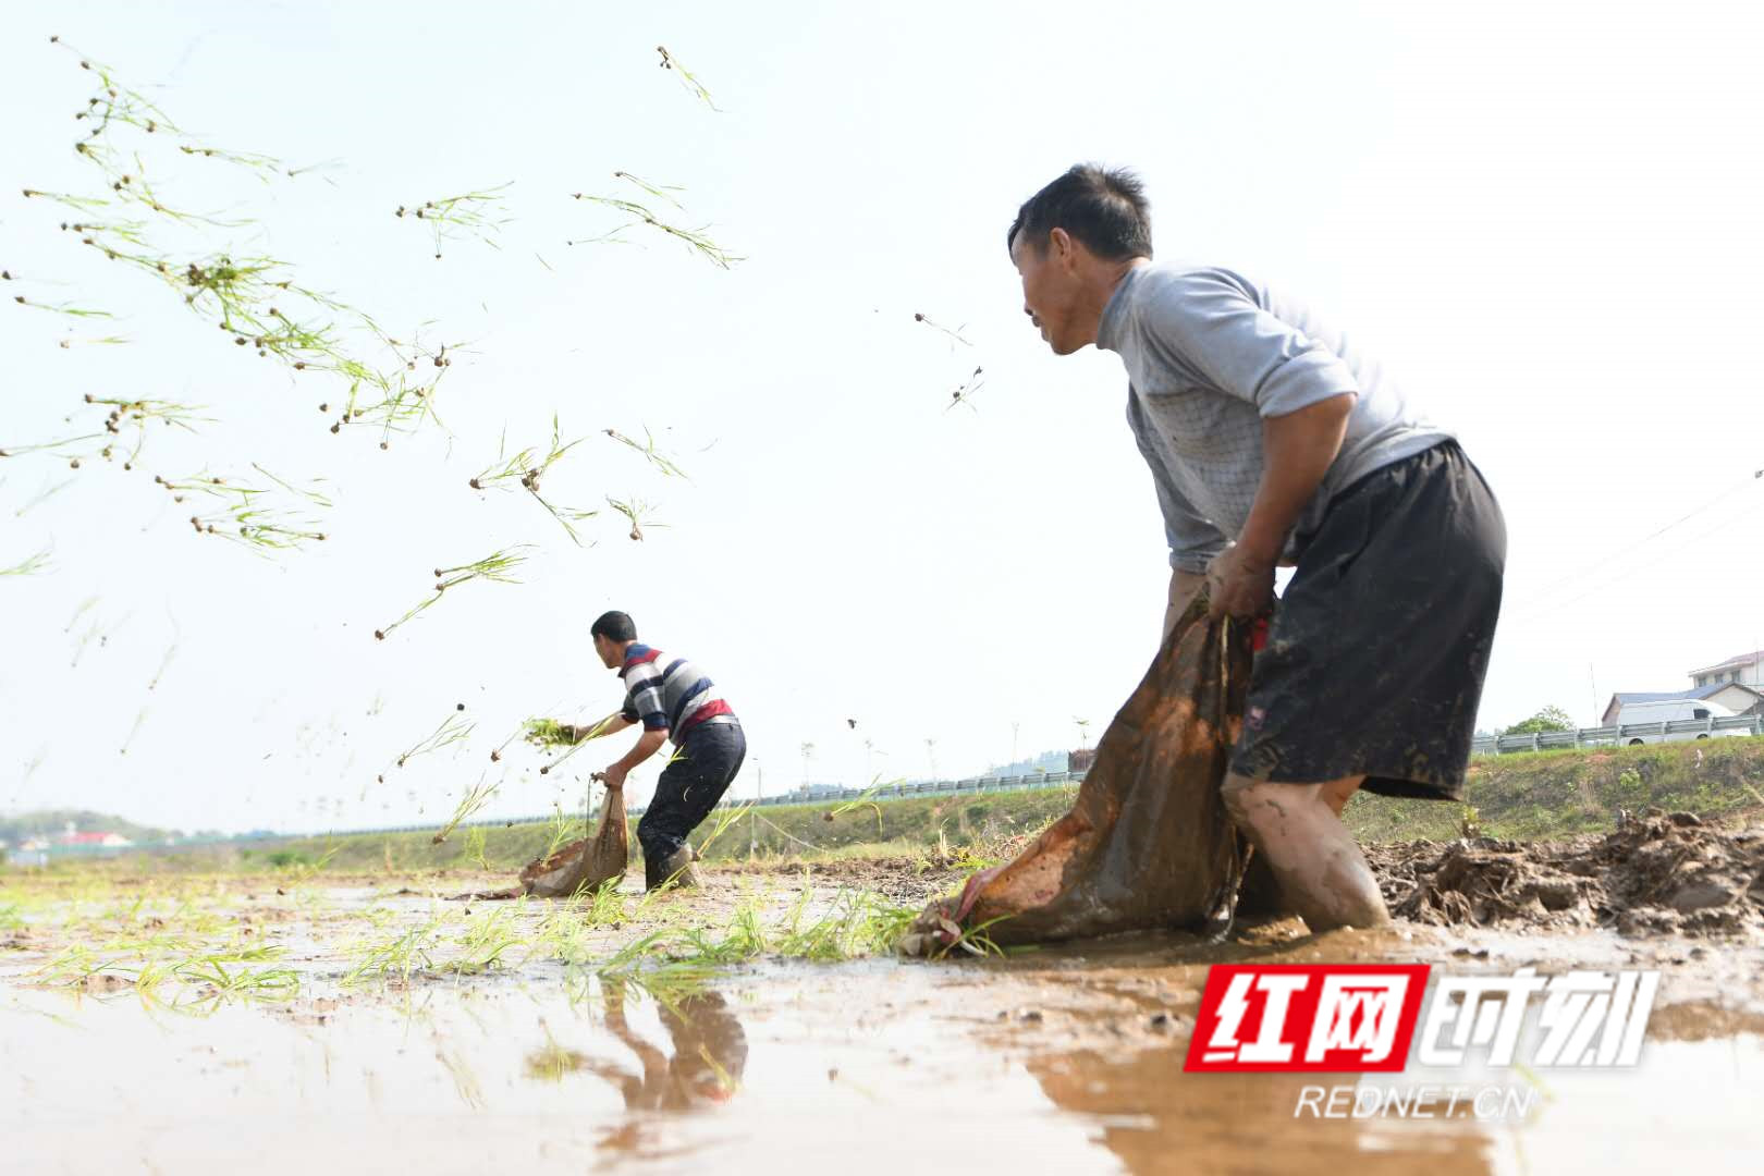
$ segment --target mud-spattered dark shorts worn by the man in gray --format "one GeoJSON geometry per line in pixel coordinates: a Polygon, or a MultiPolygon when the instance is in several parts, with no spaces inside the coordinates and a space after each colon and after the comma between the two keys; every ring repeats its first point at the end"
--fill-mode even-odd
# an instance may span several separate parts
{"type": "Polygon", "coordinates": [[[1454,441],[1342,492],[1256,654],[1231,770],[1461,799],[1505,562],[1501,508],[1454,441]]]}

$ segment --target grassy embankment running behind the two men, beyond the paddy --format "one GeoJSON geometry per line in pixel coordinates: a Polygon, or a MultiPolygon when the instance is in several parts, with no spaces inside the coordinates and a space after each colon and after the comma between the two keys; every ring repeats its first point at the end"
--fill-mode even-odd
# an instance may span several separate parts
{"type": "MultiPolygon", "coordinates": [[[[753,809],[704,848],[706,860],[908,857],[961,860],[990,855],[1064,813],[1074,788],[880,804],[799,804],[753,809]]],[[[1700,816],[1764,809],[1764,739],[1711,739],[1598,751],[1484,756],[1471,765],[1464,804],[1362,793],[1344,816],[1362,841],[1450,839],[1466,823],[1494,837],[1535,839],[1598,832],[1619,809],[1658,806],[1700,816]]],[[[695,836],[702,845],[707,822],[695,836]]],[[[205,846],[122,859],[131,869],[310,869],[395,873],[515,871],[550,846],[584,836],[573,825],[522,823],[460,829],[434,845],[427,832],[300,837],[259,846],[205,846]]],[[[635,837],[633,860],[639,857],[635,837]]]]}

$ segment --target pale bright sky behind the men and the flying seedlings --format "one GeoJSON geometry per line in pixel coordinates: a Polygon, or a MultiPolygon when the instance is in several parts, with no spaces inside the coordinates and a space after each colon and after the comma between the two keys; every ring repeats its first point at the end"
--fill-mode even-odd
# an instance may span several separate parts
{"type": "Polygon", "coordinates": [[[587,640],[609,607],[727,688],[751,742],[743,795],[804,770],[924,776],[933,756],[940,776],[975,772],[1013,746],[1074,746],[1074,718],[1094,739],[1155,652],[1168,566],[1118,361],[1051,356],[1005,257],[1018,203],[1078,160],[1143,173],[1162,257],[1291,289],[1459,432],[1510,527],[1484,726],[1547,703],[1593,723],[1614,689],[1685,688],[1764,647],[1764,400],[1745,342],[1764,319],[1764,79],[1739,5],[501,4],[492,19],[58,0],[7,5],[0,26],[0,264],[65,282],[5,293],[122,316],[0,305],[0,446],[92,420],[88,391],[213,418],[155,434],[127,474],[0,460],[0,566],[53,545],[46,573],[0,578],[0,811],[439,822],[487,769],[485,815],[579,804],[628,735],[547,778],[489,749],[526,716],[617,705],[587,640]],[[256,222],[210,249],[249,240],[393,335],[455,344],[450,435],[388,451],[365,428],[330,435],[335,383],[229,346],[18,196],[93,183],[69,150],[90,76],[51,33],[206,141],[335,160],[268,185],[176,153],[146,167],[168,196],[256,222]],[[656,67],[656,44],[721,111],[656,67]],[[746,259],[723,272],[635,231],[642,247],[566,247],[617,224],[570,194],[612,194],[619,169],[684,187],[679,220],[746,259]],[[457,240],[436,261],[392,215],[506,182],[499,249],[457,240]],[[131,342],[56,346],[109,333],[131,342]],[[972,411],[946,411],[975,365],[972,411]],[[510,450],[543,444],[552,413],[587,437],[547,476],[559,502],[639,495],[667,525],[633,543],[598,518],[577,550],[519,492],[466,485],[505,428],[510,450]],[[654,430],[691,480],[607,427],[654,430]],[[323,547],[263,561],[199,538],[150,483],[250,462],[328,480],[323,547]],[[374,642],[432,568],[512,543],[540,545],[522,584],[464,585],[374,642]],[[469,742],[392,767],[460,702],[469,742]]]}

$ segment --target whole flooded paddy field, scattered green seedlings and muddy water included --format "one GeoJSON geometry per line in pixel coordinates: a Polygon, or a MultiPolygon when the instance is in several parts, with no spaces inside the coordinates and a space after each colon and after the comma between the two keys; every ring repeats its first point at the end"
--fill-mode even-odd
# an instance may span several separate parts
{"type": "Polygon", "coordinates": [[[1554,912],[896,959],[956,876],[720,867],[700,892],[485,903],[453,896],[503,878],[11,875],[5,1169],[90,1171],[99,1137],[139,1172],[1738,1172],[1764,1148],[1753,936],[1554,912]],[[1233,961],[1662,984],[1633,1068],[1185,1074],[1207,968],[1233,961]],[[1295,1116],[1307,1086],[1379,1079],[1514,1104],[1295,1116]]]}

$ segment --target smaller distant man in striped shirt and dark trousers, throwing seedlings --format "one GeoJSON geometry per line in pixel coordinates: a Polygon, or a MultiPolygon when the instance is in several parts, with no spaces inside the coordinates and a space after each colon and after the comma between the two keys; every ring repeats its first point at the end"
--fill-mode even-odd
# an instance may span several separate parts
{"type": "Polygon", "coordinates": [[[711,815],[741,770],[748,753],[746,735],[711,679],[684,658],[670,658],[639,642],[637,624],[628,614],[603,614],[589,633],[600,661],[624,679],[624,705],[591,728],[564,728],[564,739],[575,742],[587,732],[610,735],[635,723],[644,725],[637,746],[600,772],[607,788],[623,788],[633,767],[669,739],[674,741],[674,758],[662,769],[656,793],[637,822],[637,841],[644,846],[647,889],[654,890],[669,880],[697,885],[686,836],[711,815]]]}

